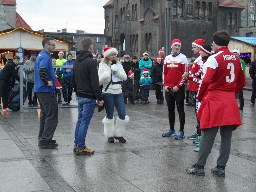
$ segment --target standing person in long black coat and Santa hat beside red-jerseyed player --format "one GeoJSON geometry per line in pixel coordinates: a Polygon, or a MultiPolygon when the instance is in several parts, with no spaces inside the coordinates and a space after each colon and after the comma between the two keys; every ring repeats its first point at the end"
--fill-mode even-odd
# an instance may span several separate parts
{"type": "Polygon", "coordinates": [[[163,63],[162,57],[157,57],[157,63],[151,69],[152,83],[155,84],[157,104],[163,104],[163,63]]]}

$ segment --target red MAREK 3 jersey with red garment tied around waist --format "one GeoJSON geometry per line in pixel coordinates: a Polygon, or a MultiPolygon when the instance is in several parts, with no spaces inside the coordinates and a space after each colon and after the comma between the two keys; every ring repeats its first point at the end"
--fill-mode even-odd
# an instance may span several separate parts
{"type": "Polygon", "coordinates": [[[235,96],[245,85],[241,62],[228,47],[221,47],[204,65],[197,94],[203,101],[197,113],[200,129],[234,125],[235,130],[242,124],[235,96]]]}

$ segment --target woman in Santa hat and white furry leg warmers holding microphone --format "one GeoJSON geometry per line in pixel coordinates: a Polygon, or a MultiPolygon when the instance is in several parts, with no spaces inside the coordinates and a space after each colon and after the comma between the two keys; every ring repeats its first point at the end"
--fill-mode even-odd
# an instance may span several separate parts
{"type": "MultiPolygon", "coordinates": [[[[103,91],[107,87],[108,83],[111,81],[111,70],[115,72],[115,75],[122,81],[127,79],[127,75],[123,70],[119,70],[118,66],[112,64],[112,61],[117,59],[117,50],[114,47],[105,47],[104,58],[99,64],[99,84],[103,84],[103,91]]],[[[129,121],[129,117],[125,114],[125,105],[123,100],[123,92],[121,84],[111,84],[109,85],[104,96],[104,104],[107,112],[107,116],[102,120],[104,124],[104,133],[108,142],[114,143],[114,139],[118,139],[119,142],[125,143],[126,140],[123,138],[125,126],[129,121]],[[114,126],[114,106],[116,107],[118,117],[116,117],[116,123],[114,126]]]]}

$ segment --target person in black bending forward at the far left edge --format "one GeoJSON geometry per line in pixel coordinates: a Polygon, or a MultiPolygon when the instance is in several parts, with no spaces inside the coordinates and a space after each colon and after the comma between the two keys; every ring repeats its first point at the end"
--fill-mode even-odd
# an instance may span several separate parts
{"type": "MultiPolygon", "coordinates": [[[[15,55],[11,61],[5,64],[4,69],[0,73],[0,98],[2,97],[3,100],[3,111],[12,111],[8,108],[8,93],[14,85],[14,82],[11,82],[12,77],[20,82],[20,77],[15,69],[19,61],[20,57],[15,55]]],[[[25,85],[23,86],[25,87],[25,85]]]]}

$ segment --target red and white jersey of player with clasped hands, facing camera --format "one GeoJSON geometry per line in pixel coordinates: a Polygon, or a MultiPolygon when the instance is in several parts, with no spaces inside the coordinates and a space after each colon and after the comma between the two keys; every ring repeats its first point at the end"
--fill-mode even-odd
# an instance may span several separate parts
{"type": "Polygon", "coordinates": [[[172,54],[166,56],[163,65],[163,87],[167,85],[180,88],[185,82],[185,79],[182,78],[184,72],[188,72],[188,62],[185,55],[180,53],[177,56],[172,54]]]}

